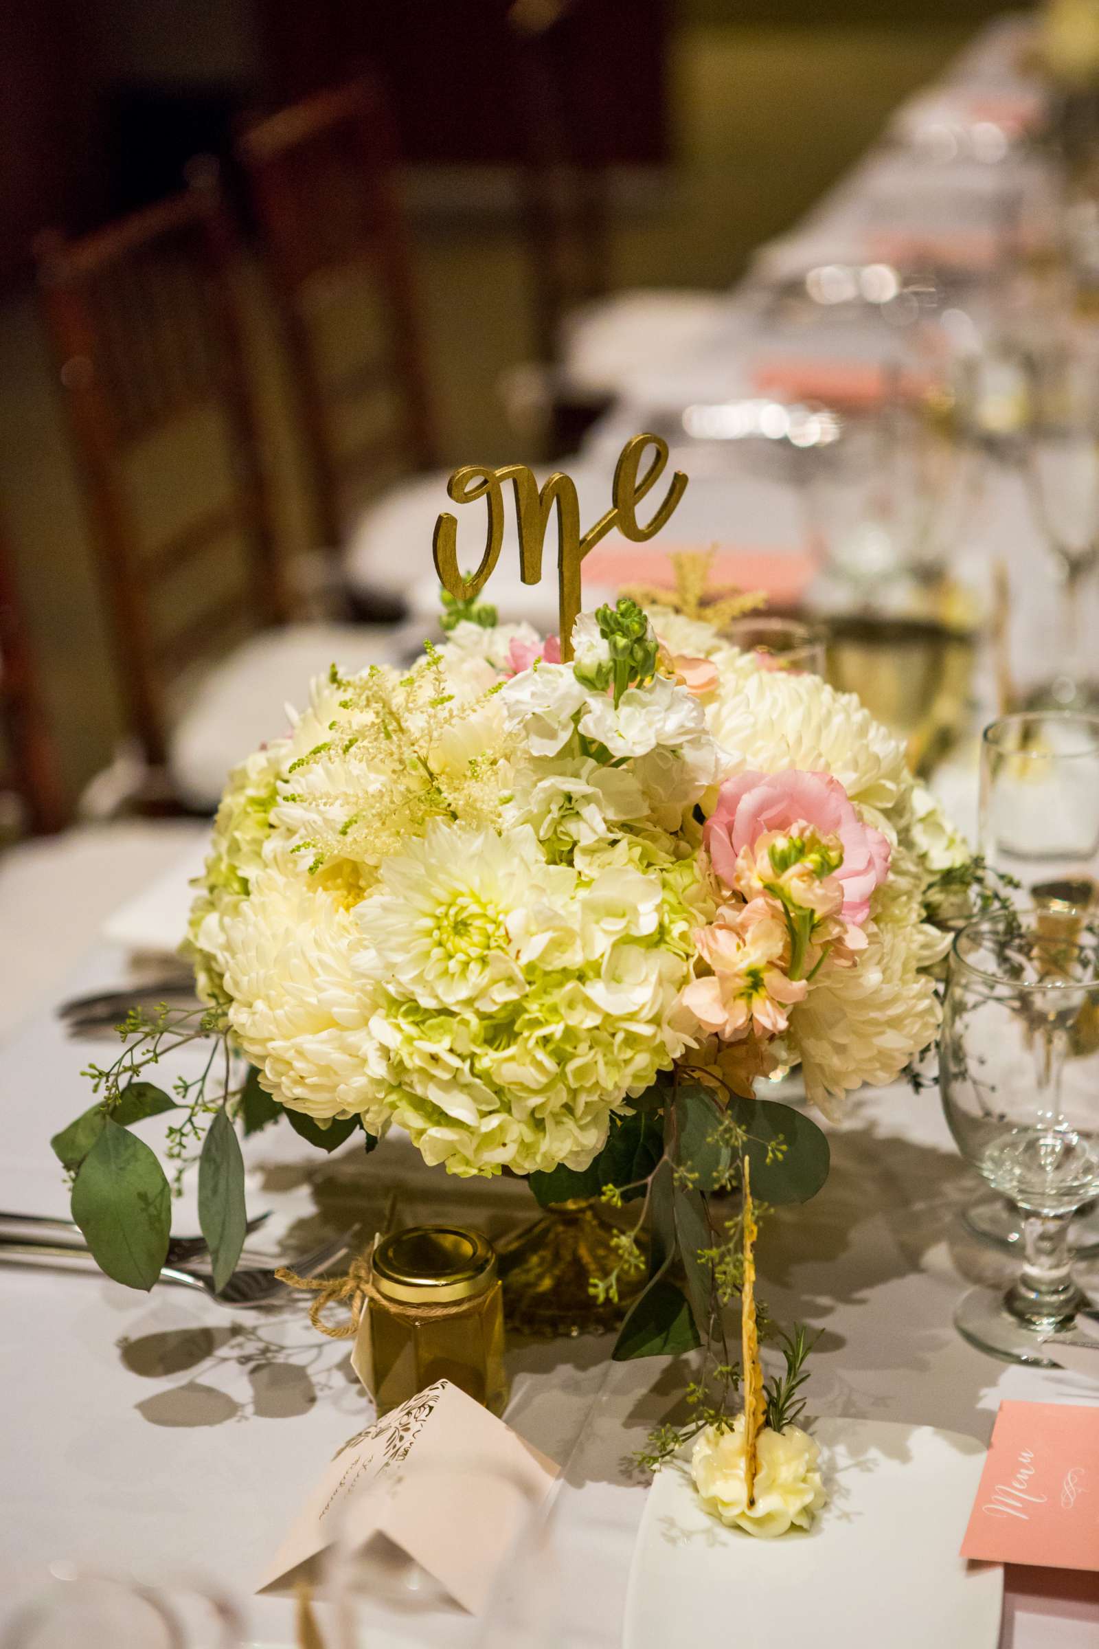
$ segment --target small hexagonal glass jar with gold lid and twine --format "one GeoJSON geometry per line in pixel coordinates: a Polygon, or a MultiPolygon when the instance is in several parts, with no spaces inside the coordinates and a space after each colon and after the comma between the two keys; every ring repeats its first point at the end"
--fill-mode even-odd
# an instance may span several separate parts
{"type": "Polygon", "coordinates": [[[507,1402],[496,1253],[479,1232],[410,1225],[371,1258],[369,1387],[384,1415],[450,1380],[494,1415],[507,1402]]]}

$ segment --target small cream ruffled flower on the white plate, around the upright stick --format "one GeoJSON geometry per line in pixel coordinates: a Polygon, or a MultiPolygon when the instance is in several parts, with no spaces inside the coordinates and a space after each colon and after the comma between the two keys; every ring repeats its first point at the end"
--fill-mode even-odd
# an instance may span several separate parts
{"type": "Polygon", "coordinates": [[[756,1436],[756,1474],[751,1507],[745,1471],[745,1416],[728,1430],[704,1426],[690,1454],[690,1476],[710,1517],[750,1535],[773,1539],[788,1529],[809,1529],[827,1494],[821,1481],[821,1449],[799,1426],[756,1436]]]}

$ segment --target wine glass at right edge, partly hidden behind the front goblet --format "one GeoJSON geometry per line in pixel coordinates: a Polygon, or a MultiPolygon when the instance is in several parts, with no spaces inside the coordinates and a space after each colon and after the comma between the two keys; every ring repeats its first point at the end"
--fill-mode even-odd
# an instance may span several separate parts
{"type": "MultiPolygon", "coordinates": [[[[1023,711],[990,722],[980,740],[979,844],[1017,886],[1015,902],[1051,912],[1099,902],[1099,716],[1023,711]]],[[[977,1237],[1017,1248],[1012,1204],[979,1197],[966,1212],[977,1237]]],[[[1079,1255],[1099,1252],[1099,1227],[1079,1220],[1079,1255]]]]}

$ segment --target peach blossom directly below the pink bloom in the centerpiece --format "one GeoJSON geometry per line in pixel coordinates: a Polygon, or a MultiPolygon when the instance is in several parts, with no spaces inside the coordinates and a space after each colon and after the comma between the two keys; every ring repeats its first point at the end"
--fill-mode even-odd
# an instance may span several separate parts
{"type": "Polygon", "coordinates": [[[699,955],[713,973],[692,980],[682,1001],[705,1031],[735,1042],[750,1031],[773,1037],[786,1029],[789,1009],[809,989],[783,970],[788,940],[786,918],[766,899],[725,905],[710,927],[695,928],[699,955]]]}

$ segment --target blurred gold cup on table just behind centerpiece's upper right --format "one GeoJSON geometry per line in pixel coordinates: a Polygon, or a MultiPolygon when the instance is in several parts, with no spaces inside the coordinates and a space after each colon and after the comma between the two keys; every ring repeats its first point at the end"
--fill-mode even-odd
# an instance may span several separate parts
{"type": "Polygon", "coordinates": [[[967,716],[974,638],[921,618],[872,613],[829,617],[827,681],[857,693],[905,739],[908,763],[926,777],[957,742],[967,716]]]}

